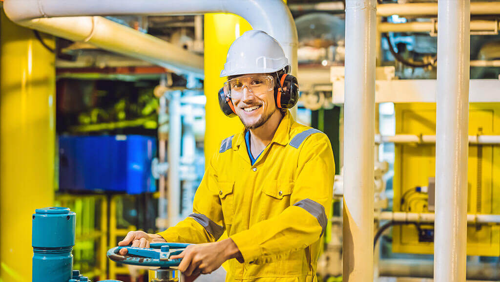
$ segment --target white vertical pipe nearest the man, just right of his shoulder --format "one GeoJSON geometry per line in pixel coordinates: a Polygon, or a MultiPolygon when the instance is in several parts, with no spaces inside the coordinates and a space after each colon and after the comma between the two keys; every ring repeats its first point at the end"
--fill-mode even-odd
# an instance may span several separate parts
{"type": "Polygon", "coordinates": [[[376,0],[345,2],[343,278],[373,281],[376,0]]]}

